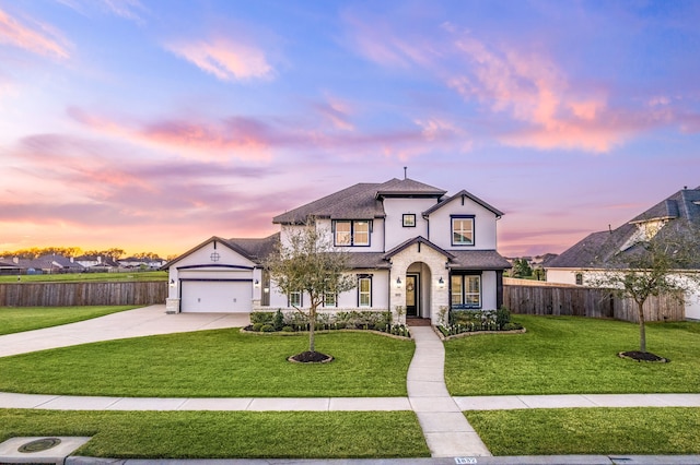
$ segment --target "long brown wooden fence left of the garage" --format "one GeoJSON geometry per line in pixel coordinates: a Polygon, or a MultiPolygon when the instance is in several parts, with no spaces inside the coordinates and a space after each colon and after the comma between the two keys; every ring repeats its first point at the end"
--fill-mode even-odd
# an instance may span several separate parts
{"type": "Polygon", "coordinates": [[[0,284],[0,307],[149,306],[166,298],[166,282],[0,284]]]}

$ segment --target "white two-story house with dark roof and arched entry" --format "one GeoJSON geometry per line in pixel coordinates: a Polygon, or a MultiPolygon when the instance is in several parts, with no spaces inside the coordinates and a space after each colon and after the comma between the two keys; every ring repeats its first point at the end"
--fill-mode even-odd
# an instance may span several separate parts
{"type": "Polygon", "coordinates": [[[503,271],[497,252],[499,210],[467,191],[412,179],[359,183],[272,218],[262,239],[212,237],[171,261],[168,312],[249,312],[306,307],[280,294],[261,266],[275,243],[310,218],[349,252],[357,287],[327,296],[325,311],[375,310],[438,322],[444,309],[497,309],[503,271]]]}

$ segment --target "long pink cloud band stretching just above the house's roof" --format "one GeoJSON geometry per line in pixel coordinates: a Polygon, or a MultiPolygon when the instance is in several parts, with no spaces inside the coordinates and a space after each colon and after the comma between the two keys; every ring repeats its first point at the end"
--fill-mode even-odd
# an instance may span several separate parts
{"type": "Polygon", "coordinates": [[[218,119],[166,118],[143,122],[129,118],[109,118],[82,108],[70,107],[68,115],[81,124],[137,144],[165,146],[197,159],[237,158],[269,163],[288,148],[303,148],[311,156],[326,155],[357,158],[358,150],[368,156],[377,152],[401,160],[432,151],[438,145],[454,147],[460,130],[440,119],[416,120],[400,128],[375,132],[350,130],[349,117],[338,104],[312,105],[332,128],[318,127],[316,119],[257,118],[232,116],[218,119]],[[337,129],[345,129],[337,131],[337,129]]]}

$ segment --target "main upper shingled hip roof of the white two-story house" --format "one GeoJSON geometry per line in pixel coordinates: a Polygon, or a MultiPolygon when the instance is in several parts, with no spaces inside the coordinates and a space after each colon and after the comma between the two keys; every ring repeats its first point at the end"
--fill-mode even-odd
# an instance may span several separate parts
{"type": "Polygon", "coordinates": [[[382,199],[387,196],[429,196],[440,199],[445,191],[412,179],[392,179],[383,183],[359,183],[326,195],[272,218],[272,223],[303,224],[308,217],[371,219],[386,216],[382,199]]]}

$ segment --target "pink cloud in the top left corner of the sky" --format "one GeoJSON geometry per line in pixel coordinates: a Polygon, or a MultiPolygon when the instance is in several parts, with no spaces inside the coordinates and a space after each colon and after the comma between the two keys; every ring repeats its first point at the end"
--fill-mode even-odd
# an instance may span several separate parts
{"type": "Polygon", "coordinates": [[[57,31],[47,24],[33,23],[34,27],[30,27],[0,10],[0,43],[47,57],[70,57],[66,39],[57,31]]]}

